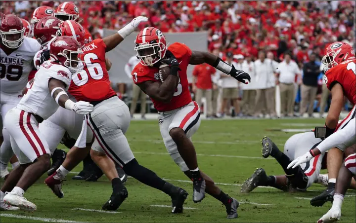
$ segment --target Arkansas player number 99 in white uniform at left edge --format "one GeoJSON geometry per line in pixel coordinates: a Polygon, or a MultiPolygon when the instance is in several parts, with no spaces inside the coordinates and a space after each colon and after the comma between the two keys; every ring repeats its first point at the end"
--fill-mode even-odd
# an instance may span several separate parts
{"type": "MultiPolygon", "coordinates": [[[[41,45],[33,38],[25,37],[25,28],[20,18],[9,14],[1,18],[0,37],[0,104],[2,123],[10,109],[22,97],[29,73],[34,69],[32,61],[41,45]]],[[[2,130],[4,141],[0,151],[1,177],[8,174],[7,163],[13,155],[10,138],[6,129],[2,130]]]]}

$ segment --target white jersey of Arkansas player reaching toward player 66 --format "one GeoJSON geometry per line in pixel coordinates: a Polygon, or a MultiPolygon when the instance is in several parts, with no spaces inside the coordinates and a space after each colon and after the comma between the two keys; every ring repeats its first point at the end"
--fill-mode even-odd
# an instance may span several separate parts
{"type": "Polygon", "coordinates": [[[58,104],[52,98],[48,88],[48,82],[51,78],[63,81],[66,84],[65,91],[67,91],[72,80],[72,74],[64,66],[52,61],[46,61],[41,65],[30,89],[28,89],[16,107],[23,111],[37,114],[43,119],[51,116],[58,109],[58,104]]]}

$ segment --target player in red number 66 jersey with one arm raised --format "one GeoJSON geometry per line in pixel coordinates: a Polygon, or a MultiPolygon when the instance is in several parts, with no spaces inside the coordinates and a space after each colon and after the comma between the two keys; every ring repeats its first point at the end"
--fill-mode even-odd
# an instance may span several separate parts
{"type": "MultiPolygon", "coordinates": [[[[139,165],[134,158],[124,135],[130,124],[130,111],[111,88],[105,67],[105,53],[130,35],[140,22],[145,21],[147,21],[146,17],[139,16],[118,31],[118,34],[103,39],[94,39],[85,44],[82,48],[84,51],[82,59],[85,61],[84,71],[73,75],[69,93],[77,100],[83,99],[94,105],[94,111],[88,117],[88,125],[95,136],[90,154],[99,167],[104,169],[103,165],[106,164],[104,160],[110,158],[119,164],[128,175],[170,195],[173,203],[172,213],[181,213],[187,192],[162,180],[151,170],[139,165]]],[[[67,158],[72,157],[68,154],[67,158]]],[[[58,192],[56,190],[61,190],[61,182],[70,171],[65,168],[65,163],[66,161],[45,180],[48,186],[57,188],[53,190],[55,193],[58,192]]],[[[116,210],[126,199],[128,192],[121,184],[115,168],[105,174],[112,181],[113,193],[102,208],[116,210]]]]}

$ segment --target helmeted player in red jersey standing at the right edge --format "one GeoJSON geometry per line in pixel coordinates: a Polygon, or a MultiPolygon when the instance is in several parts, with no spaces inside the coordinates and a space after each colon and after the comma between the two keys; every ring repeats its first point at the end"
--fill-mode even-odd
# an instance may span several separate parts
{"type": "MultiPolygon", "coordinates": [[[[325,121],[325,137],[329,137],[335,131],[344,129],[348,124],[352,124],[352,121],[350,120],[355,117],[355,114],[351,114],[352,112],[350,112],[348,117],[344,119],[339,126],[337,125],[344,105],[344,97],[354,105],[356,104],[355,51],[348,43],[334,42],[326,48],[322,63],[326,65],[324,70],[324,80],[327,88],[331,91],[332,96],[330,109],[325,121]]],[[[342,164],[343,151],[345,149],[344,146],[340,145],[337,146],[337,148],[332,148],[328,151],[328,188],[311,200],[312,206],[322,206],[325,202],[332,200],[335,191],[336,178],[342,164]]],[[[319,153],[319,149],[312,149],[311,153],[307,154],[307,159],[310,159],[319,153]]],[[[302,157],[303,156],[299,158],[302,159],[302,157]]]]}

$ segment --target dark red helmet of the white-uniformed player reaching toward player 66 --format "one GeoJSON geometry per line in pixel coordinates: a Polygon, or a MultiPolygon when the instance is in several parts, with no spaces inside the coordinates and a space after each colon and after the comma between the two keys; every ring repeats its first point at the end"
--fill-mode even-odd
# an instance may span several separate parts
{"type": "Polygon", "coordinates": [[[50,43],[50,57],[67,67],[72,74],[83,70],[84,63],[79,59],[82,53],[81,45],[73,37],[56,37],[50,43]]]}

